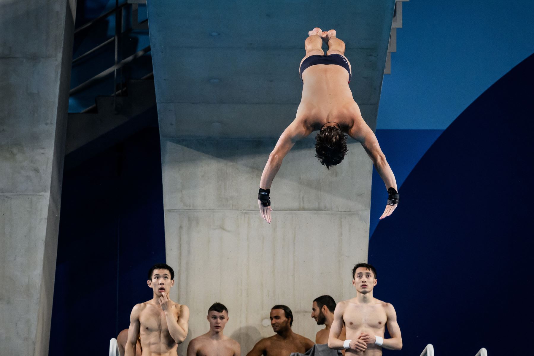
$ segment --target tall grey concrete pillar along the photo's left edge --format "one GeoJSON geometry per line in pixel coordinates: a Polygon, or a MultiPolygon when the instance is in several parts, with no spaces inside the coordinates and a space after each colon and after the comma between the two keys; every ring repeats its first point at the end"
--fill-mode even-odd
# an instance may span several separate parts
{"type": "Polygon", "coordinates": [[[0,1],[0,354],[46,355],[74,0],[0,1]]]}

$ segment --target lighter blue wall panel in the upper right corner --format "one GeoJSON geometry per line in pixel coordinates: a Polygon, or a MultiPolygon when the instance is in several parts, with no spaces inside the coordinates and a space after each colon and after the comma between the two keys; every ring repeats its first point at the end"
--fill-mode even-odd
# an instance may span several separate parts
{"type": "Polygon", "coordinates": [[[377,128],[447,128],[534,52],[532,13],[530,0],[405,2],[377,128]]]}

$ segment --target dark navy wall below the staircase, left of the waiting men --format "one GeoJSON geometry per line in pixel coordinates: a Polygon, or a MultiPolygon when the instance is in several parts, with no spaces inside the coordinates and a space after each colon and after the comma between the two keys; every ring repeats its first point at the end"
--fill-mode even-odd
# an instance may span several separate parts
{"type": "Polygon", "coordinates": [[[63,184],[50,355],[107,354],[133,305],[152,298],[148,268],[165,261],[158,128],[65,171],[63,184]]]}

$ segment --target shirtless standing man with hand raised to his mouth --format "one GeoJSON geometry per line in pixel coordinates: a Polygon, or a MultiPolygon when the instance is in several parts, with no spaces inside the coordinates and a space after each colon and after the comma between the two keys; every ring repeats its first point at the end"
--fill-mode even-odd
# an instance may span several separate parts
{"type": "Polygon", "coordinates": [[[152,299],[136,304],[130,314],[125,356],[134,356],[140,336],[143,356],[176,356],[176,348],[187,336],[189,308],[168,298],[174,285],[174,271],[166,264],[155,264],[148,271],[152,299]]]}

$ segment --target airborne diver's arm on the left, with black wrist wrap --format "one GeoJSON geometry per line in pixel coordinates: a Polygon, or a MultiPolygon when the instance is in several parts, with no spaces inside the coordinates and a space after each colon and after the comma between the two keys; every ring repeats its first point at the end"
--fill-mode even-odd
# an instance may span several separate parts
{"type": "MultiPolygon", "coordinates": [[[[295,142],[310,134],[303,121],[296,118],[287,129],[282,132],[282,135],[278,139],[276,146],[269,155],[269,160],[265,164],[263,169],[262,178],[260,180],[260,189],[270,189],[274,176],[278,173],[282,160],[289,152],[289,150],[295,145],[295,142]]],[[[261,191],[260,191],[261,192],[261,191]]],[[[260,207],[260,215],[262,218],[271,223],[271,201],[269,200],[269,192],[263,192],[264,199],[261,201],[258,199],[258,206],[260,207]]],[[[260,195],[260,194],[258,194],[260,195]]]]}

